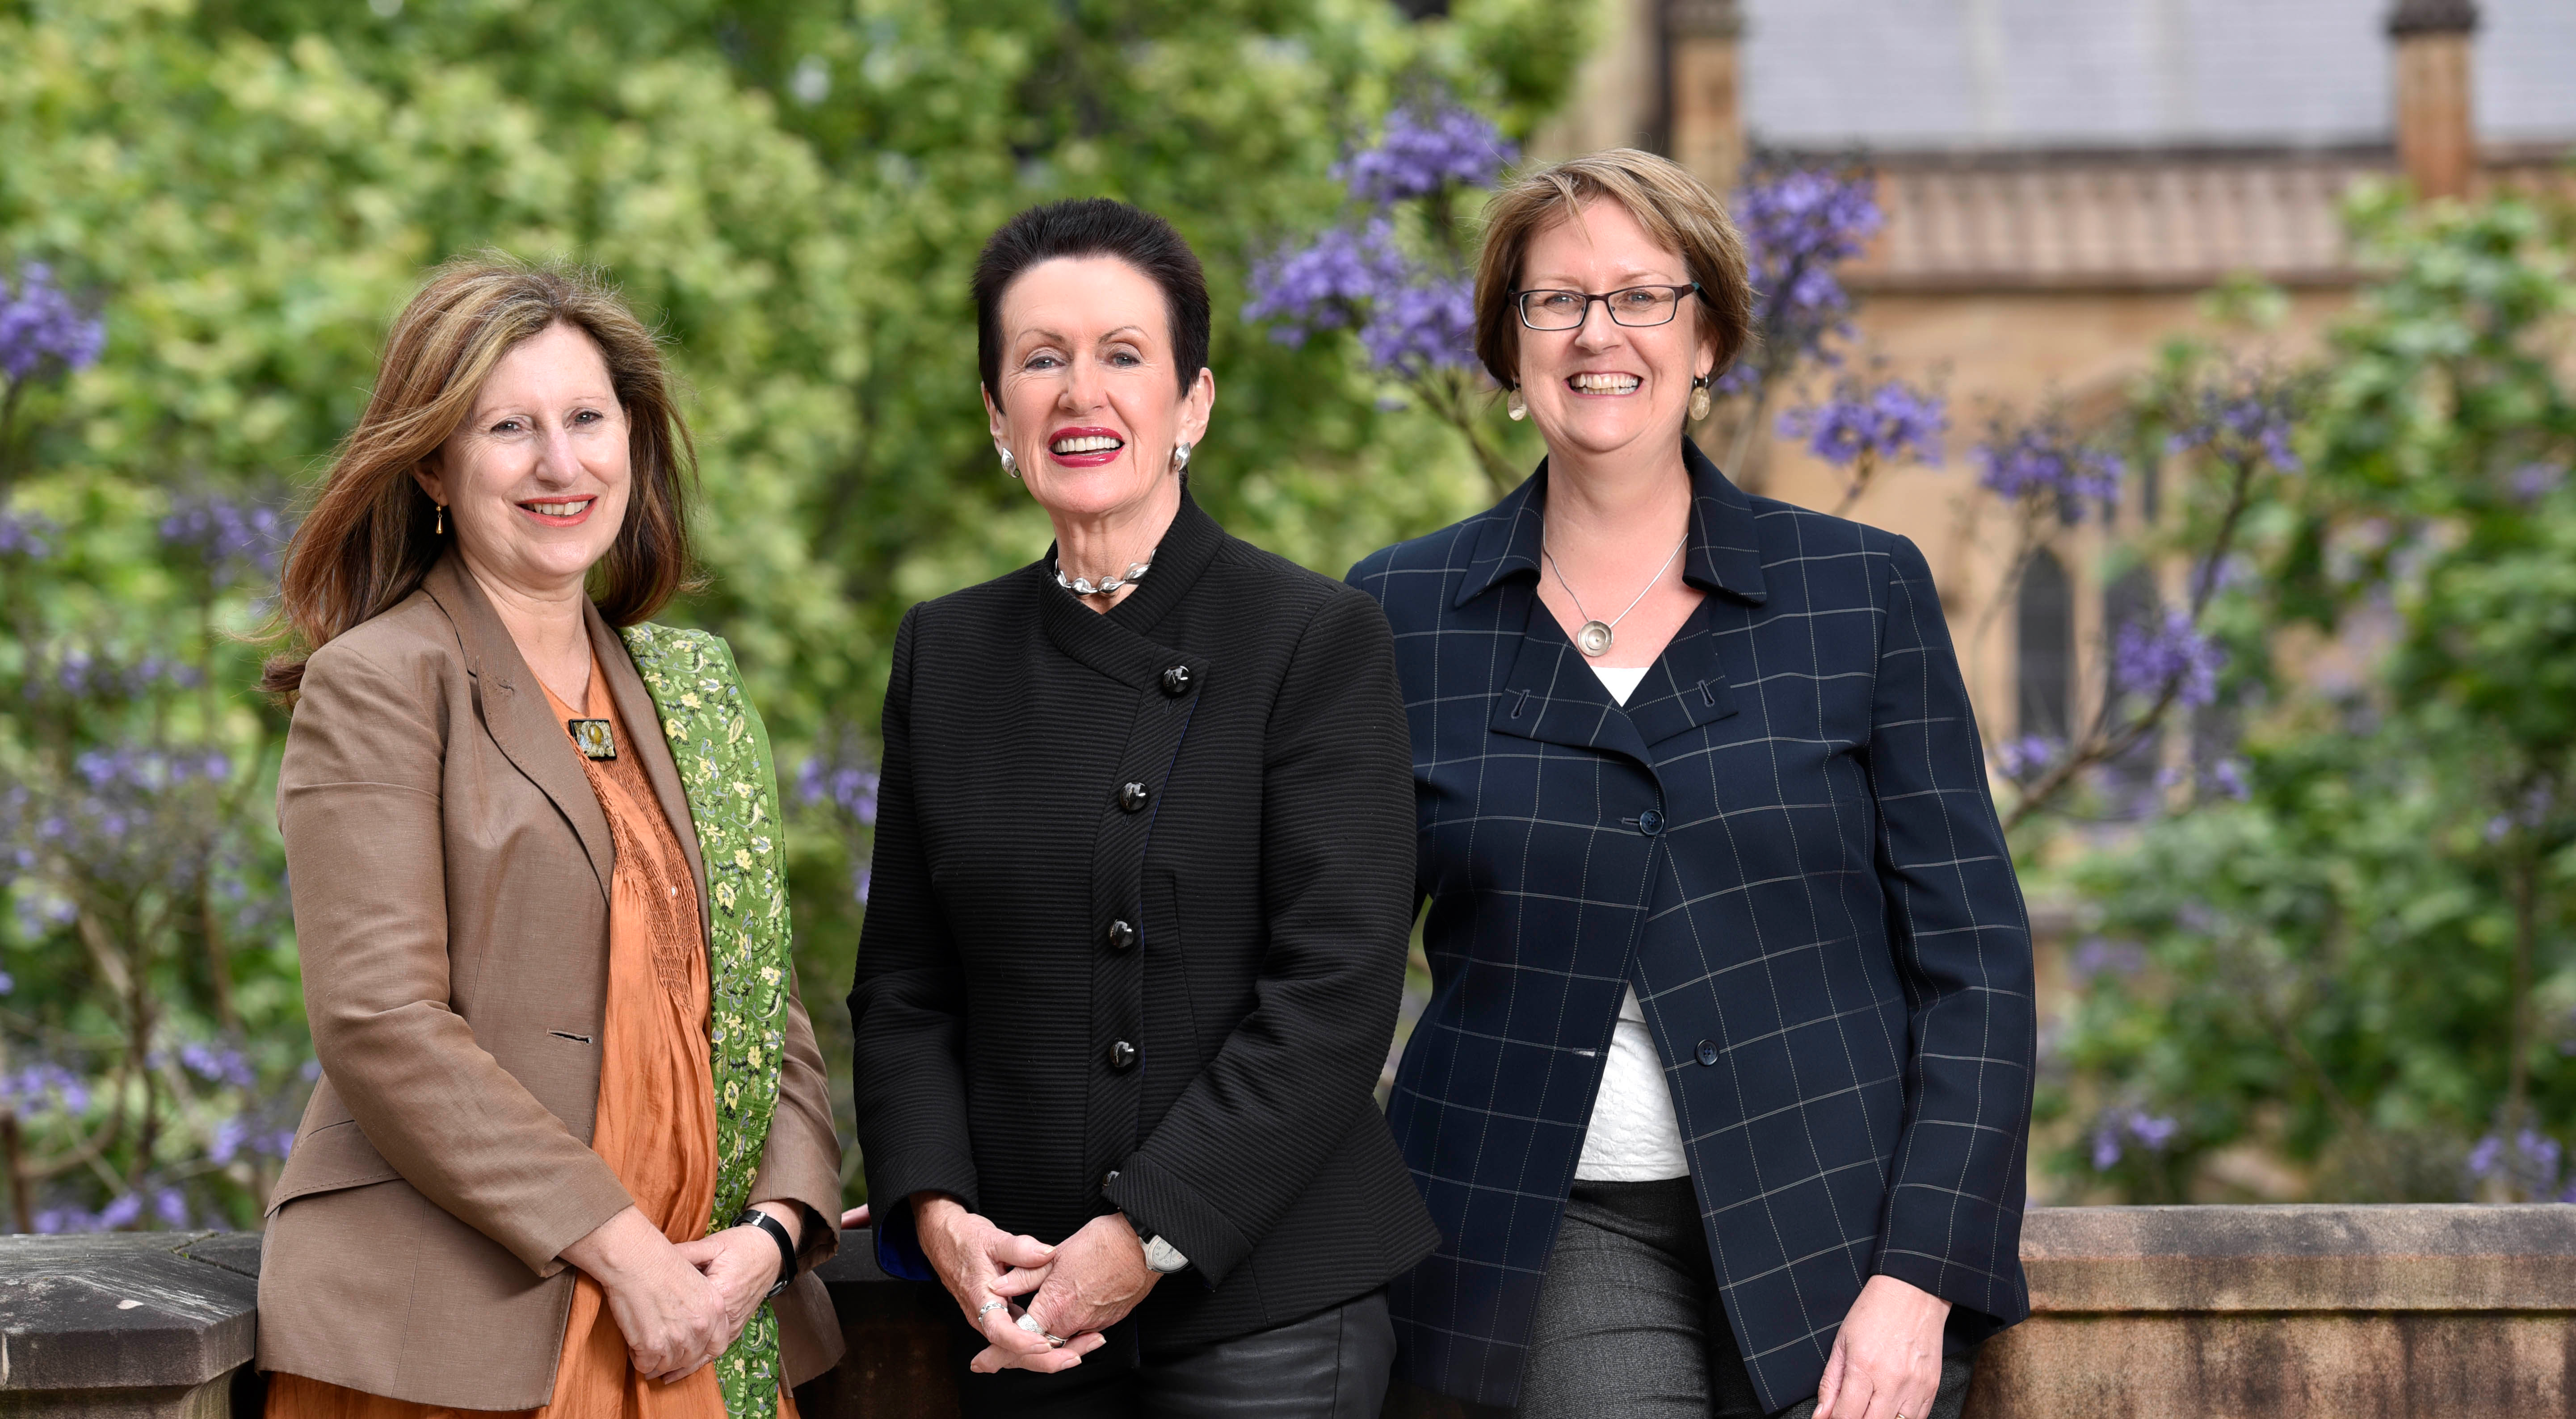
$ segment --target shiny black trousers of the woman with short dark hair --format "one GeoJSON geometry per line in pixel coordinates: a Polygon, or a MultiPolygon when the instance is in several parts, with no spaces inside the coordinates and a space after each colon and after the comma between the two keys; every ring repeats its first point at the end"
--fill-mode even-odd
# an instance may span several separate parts
{"type": "MultiPolygon", "coordinates": [[[[963,1321],[953,1334],[963,1370],[984,1339],[963,1321]]],[[[1108,1344],[1059,1375],[963,1375],[958,1409],[966,1419],[1378,1419],[1394,1365],[1386,1290],[1370,1290],[1303,1321],[1188,1349],[1141,1347],[1136,1324],[1121,1321],[1108,1344]]]]}

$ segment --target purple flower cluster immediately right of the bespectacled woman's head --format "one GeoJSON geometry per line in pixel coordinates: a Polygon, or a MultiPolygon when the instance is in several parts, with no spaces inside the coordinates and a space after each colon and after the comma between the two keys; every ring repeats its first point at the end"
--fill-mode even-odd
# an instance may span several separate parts
{"type": "Polygon", "coordinates": [[[1744,232],[1765,355],[1736,363],[1718,389],[1752,389],[1765,366],[1832,363],[1824,343],[1850,330],[1852,312],[1837,268],[1886,224],[1878,180],[1855,170],[1762,165],[1736,188],[1731,209],[1744,232]]]}

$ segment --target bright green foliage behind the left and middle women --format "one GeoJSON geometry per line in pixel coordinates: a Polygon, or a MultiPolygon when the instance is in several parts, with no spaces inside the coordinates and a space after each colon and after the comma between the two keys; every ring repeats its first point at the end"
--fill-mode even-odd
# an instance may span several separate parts
{"type": "MultiPolygon", "coordinates": [[[[193,587],[152,528],[193,489],[299,497],[425,268],[484,247],[569,255],[659,322],[693,391],[714,582],[672,616],[734,641],[791,778],[814,747],[850,760],[902,608],[1048,541],[984,435],[966,299],[984,234],[1059,196],[1175,219],[1216,296],[1218,412],[1193,487],[1234,531],[1337,574],[1479,507],[1484,479],[1453,430],[1381,407],[1332,350],[1244,330],[1249,260],[1340,209],[1332,162],[1409,93],[1455,93],[1525,131],[1561,98],[1587,13],[1461,0],[1417,26],[1378,0],[0,0],[0,265],[49,260],[108,319],[106,358],[18,415],[23,458],[0,492],[70,551],[15,572],[10,605],[46,618],[46,644],[214,667],[216,690],[170,724],[242,765],[232,816],[201,827],[234,842],[245,899],[276,904],[283,719],[247,690],[252,649],[224,639],[255,631],[260,605],[193,587]]],[[[98,724],[80,734],[111,737],[162,716],[85,713],[98,724]]],[[[67,773],[44,767],[44,734],[36,713],[0,711],[10,783],[67,773]]],[[[866,832],[829,803],[801,827],[801,979],[827,1058],[848,1058],[837,999],[866,832]]],[[[268,1092],[296,1092],[283,912],[245,909],[222,966],[196,927],[149,935],[137,950],[160,1010],[144,1015],[113,1010],[80,930],[5,927],[23,981],[10,1030],[72,1030],[106,1061],[232,1028],[281,1040],[268,1064],[286,1082],[268,1092]]],[[[113,1169],[62,1187],[113,1198],[198,1167],[206,1138],[129,1133],[118,1149],[113,1169]]],[[[260,1177],[224,1177],[204,1205],[250,1223],[260,1177]]]]}

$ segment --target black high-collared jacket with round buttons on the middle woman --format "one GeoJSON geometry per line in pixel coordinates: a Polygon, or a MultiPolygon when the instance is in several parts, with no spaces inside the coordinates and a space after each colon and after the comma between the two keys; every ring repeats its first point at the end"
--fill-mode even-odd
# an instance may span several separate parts
{"type": "Polygon", "coordinates": [[[1051,559],[894,641],[850,991],[878,1257],[914,1192],[1190,1270],[1146,1344],[1278,1326],[1440,1241],[1370,1095],[1414,901],[1386,618],[1195,502],[1110,613],[1051,559]]]}

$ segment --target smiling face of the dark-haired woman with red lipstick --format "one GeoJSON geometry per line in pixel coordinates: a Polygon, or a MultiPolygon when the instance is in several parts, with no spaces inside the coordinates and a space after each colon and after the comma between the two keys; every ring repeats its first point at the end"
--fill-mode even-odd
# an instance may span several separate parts
{"type": "Polygon", "coordinates": [[[1172,446],[1208,430],[1216,376],[1190,371],[1182,391],[1162,286],[1118,258],[1056,258],[999,306],[1002,386],[984,409],[1030,497],[1074,520],[1177,502],[1172,446]]]}

